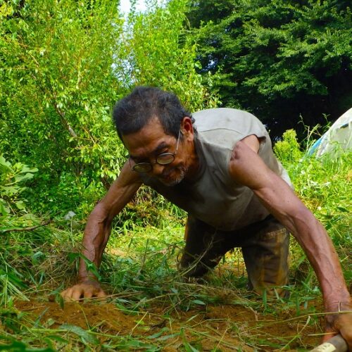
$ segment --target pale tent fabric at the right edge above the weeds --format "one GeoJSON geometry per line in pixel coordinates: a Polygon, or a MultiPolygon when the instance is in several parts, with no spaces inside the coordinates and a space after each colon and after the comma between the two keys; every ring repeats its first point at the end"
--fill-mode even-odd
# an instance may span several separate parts
{"type": "Polygon", "coordinates": [[[352,150],[352,108],[334,122],[332,127],[313,144],[309,153],[315,153],[315,156],[329,153],[333,156],[343,150],[352,150]]]}

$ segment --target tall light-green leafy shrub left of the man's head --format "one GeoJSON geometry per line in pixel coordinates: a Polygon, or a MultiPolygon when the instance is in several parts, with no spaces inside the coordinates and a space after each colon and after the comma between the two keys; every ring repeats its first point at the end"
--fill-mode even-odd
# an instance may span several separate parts
{"type": "Polygon", "coordinates": [[[119,152],[109,108],[118,85],[111,65],[121,28],[115,4],[26,1],[18,16],[14,11],[0,27],[1,134],[12,136],[1,150],[34,159],[41,177],[61,170],[114,177],[119,152]]]}

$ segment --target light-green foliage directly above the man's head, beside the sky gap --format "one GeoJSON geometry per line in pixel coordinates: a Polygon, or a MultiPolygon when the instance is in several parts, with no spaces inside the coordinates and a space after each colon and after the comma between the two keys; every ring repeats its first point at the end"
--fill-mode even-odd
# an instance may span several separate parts
{"type": "Polygon", "coordinates": [[[122,45],[127,49],[127,84],[151,85],[169,90],[193,111],[215,107],[217,96],[210,76],[196,73],[196,44],[187,35],[188,0],[172,0],[164,6],[151,2],[152,10],[130,13],[122,45]]]}

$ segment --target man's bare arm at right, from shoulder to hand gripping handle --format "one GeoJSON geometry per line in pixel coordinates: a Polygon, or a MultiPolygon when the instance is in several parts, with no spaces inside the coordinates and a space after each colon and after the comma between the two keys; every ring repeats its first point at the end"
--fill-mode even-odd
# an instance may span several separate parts
{"type": "MultiPolygon", "coordinates": [[[[326,312],[352,310],[337,252],[325,228],[281,177],[258,156],[259,142],[251,135],[232,152],[230,174],[251,188],[261,203],[296,238],[320,282],[326,312]]],[[[352,313],[327,314],[327,332],[340,332],[352,351],[352,313]]],[[[332,335],[327,335],[325,340],[332,335]]]]}

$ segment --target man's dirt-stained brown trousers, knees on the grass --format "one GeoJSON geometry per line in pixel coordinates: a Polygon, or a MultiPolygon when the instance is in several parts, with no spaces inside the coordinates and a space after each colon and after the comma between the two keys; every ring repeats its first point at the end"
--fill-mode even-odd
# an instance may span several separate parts
{"type": "Polygon", "coordinates": [[[184,234],[186,246],[179,268],[187,277],[200,277],[214,268],[222,256],[241,247],[249,277],[249,289],[283,296],[289,280],[289,233],[272,215],[241,230],[220,231],[189,216],[184,234]]]}

